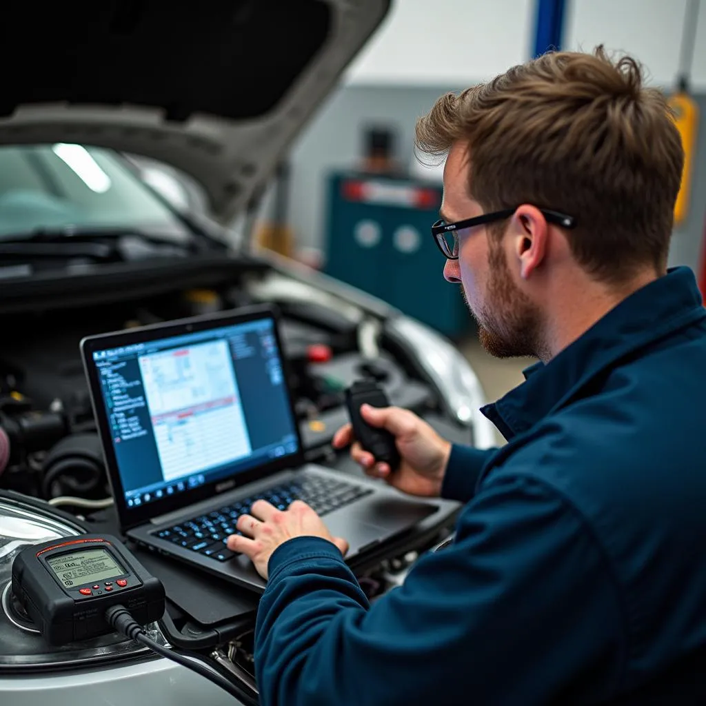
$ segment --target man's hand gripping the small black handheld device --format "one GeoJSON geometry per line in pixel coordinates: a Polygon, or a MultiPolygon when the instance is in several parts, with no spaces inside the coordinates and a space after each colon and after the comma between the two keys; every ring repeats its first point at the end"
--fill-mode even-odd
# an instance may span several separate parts
{"type": "MultiPolygon", "coordinates": [[[[393,434],[402,460],[400,468],[393,473],[387,463],[376,463],[373,455],[364,451],[357,441],[351,447],[353,460],[369,476],[383,478],[404,493],[427,498],[438,497],[451,453],[450,442],[441,438],[426,421],[408,409],[362,405],[360,411],[368,424],[387,429],[393,434]]],[[[353,441],[350,424],[339,429],[333,437],[336,448],[343,448],[353,441]]]]}

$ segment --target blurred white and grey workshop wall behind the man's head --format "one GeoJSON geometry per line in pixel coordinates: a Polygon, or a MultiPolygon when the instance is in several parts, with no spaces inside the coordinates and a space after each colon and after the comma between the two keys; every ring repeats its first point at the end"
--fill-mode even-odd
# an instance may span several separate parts
{"type": "MultiPolygon", "coordinates": [[[[654,85],[674,87],[687,0],[569,0],[564,46],[604,43],[636,56],[654,85]]],[[[337,92],[292,152],[289,222],[304,249],[324,239],[325,179],[358,163],[370,124],[397,131],[397,156],[412,163],[414,123],[447,90],[486,80],[530,55],[534,0],[397,0],[385,24],[349,67],[337,92]]],[[[693,90],[700,105],[690,211],[675,231],[671,263],[696,268],[706,218],[706,8],[696,31],[693,90]]]]}

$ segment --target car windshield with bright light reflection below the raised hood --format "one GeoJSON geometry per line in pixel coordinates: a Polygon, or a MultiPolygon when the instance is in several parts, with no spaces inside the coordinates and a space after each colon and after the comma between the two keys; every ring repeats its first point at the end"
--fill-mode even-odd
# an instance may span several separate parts
{"type": "Polygon", "coordinates": [[[190,239],[179,218],[112,150],[0,146],[0,241],[37,229],[135,228],[190,239]]]}

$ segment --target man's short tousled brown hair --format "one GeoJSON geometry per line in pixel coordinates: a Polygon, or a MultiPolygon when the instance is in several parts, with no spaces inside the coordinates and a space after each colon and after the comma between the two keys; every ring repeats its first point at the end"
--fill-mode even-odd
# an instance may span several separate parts
{"type": "Polygon", "coordinates": [[[573,255],[602,280],[666,267],[683,149],[634,59],[554,52],[448,93],[419,119],[417,147],[443,154],[458,140],[484,211],[532,203],[574,216],[573,255]]]}

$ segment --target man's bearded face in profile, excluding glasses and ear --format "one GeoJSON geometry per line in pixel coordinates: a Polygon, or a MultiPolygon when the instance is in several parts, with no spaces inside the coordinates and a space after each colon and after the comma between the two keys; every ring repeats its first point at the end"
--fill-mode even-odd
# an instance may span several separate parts
{"type": "MultiPolygon", "coordinates": [[[[469,196],[467,155],[465,145],[457,143],[444,167],[441,217],[448,223],[483,213],[469,196]]],[[[513,257],[512,242],[497,230],[507,227],[501,222],[458,232],[459,258],[446,261],[444,277],[461,285],[487,352],[498,358],[537,357],[541,316],[508,264],[513,257]]]]}

